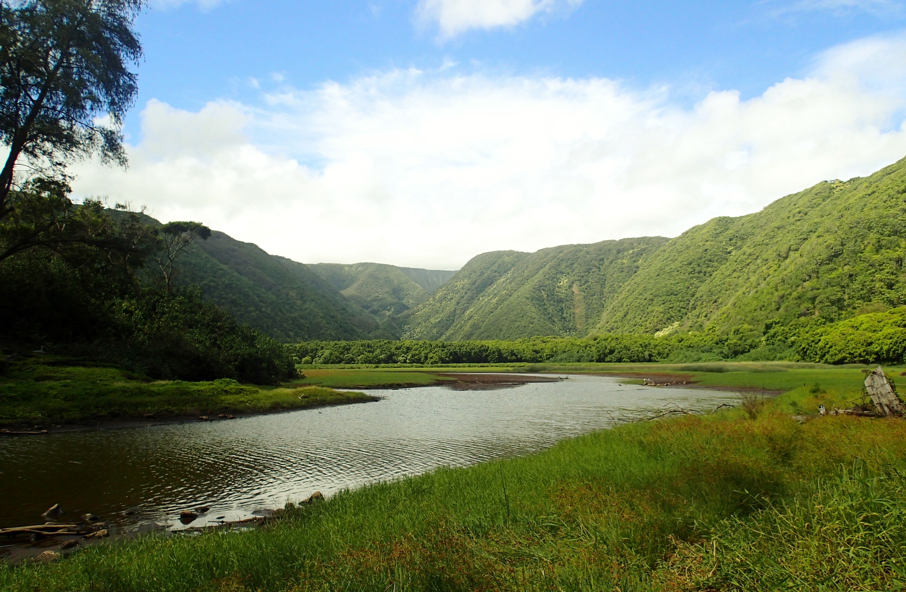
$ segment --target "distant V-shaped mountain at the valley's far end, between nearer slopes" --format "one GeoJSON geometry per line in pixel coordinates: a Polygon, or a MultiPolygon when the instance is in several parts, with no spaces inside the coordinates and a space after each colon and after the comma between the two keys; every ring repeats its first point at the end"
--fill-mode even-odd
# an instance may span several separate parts
{"type": "Polygon", "coordinates": [[[456,273],[381,263],[318,263],[309,268],[380,323],[381,329],[372,335],[391,339],[400,337],[410,309],[428,300],[456,273]]]}

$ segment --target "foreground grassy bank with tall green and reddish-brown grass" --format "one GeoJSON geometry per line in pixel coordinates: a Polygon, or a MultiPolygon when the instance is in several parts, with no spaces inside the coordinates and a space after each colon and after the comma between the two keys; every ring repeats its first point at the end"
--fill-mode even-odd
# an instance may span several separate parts
{"type": "MultiPolygon", "coordinates": [[[[733,409],[624,425],[344,492],[265,529],[3,567],[0,588],[900,589],[906,422],[791,418],[851,398],[853,379],[834,372],[755,419],[733,409]]],[[[783,380],[768,374],[783,373],[751,373],[747,385],[783,380]]]]}

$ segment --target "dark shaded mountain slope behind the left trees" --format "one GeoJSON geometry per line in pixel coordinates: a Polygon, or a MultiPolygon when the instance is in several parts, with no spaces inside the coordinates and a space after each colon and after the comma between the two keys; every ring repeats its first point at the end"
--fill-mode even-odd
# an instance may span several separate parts
{"type": "Polygon", "coordinates": [[[176,282],[197,284],[238,321],[281,340],[361,339],[378,328],[309,266],[216,230],[179,256],[176,282]]]}

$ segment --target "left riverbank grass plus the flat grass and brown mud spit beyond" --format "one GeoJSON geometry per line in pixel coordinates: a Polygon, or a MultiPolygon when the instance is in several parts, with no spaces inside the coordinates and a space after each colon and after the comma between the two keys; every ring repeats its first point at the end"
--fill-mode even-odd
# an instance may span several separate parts
{"type": "Polygon", "coordinates": [[[475,376],[310,369],[304,378],[280,386],[240,384],[229,379],[188,383],[152,381],[111,364],[35,356],[6,363],[2,368],[0,435],[221,421],[252,414],[377,401],[374,396],[345,389],[441,384],[454,388],[493,388],[555,380],[548,376],[514,377],[506,373],[475,376]]]}

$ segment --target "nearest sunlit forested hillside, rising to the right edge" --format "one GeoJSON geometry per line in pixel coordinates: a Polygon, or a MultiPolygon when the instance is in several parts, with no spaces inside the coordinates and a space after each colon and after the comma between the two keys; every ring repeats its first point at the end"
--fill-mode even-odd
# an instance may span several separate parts
{"type": "Polygon", "coordinates": [[[906,160],[690,228],[648,258],[596,331],[828,321],[906,303],[906,160]]]}

